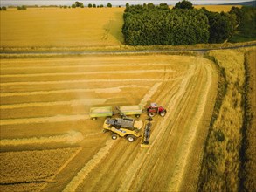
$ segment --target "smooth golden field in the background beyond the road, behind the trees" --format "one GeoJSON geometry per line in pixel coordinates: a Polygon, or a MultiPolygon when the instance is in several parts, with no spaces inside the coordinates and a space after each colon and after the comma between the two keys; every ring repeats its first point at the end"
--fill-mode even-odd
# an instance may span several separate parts
{"type": "MultiPolygon", "coordinates": [[[[200,9],[202,6],[195,6],[200,9]]],[[[229,11],[228,5],[205,5],[229,11]]],[[[2,47],[73,47],[122,45],[125,8],[29,8],[1,11],[2,47]]]]}

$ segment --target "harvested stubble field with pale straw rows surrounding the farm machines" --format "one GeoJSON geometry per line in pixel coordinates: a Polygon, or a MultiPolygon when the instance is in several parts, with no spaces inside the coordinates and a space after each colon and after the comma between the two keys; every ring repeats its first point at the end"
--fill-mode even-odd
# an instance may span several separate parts
{"type": "MultiPolygon", "coordinates": [[[[38,188],[35,182],[23,183],[28,188],[194,189],[216,86],[213,65],[201,57],[3,59],[1,150],[80,148],[70,154],[68,162],[59,162],[59,169],[48,176],[50,181],[43,187],[42,183],[38,188]],[[90,106],[146,106],[150,101],[166,107],[168,113],[164,118],[154,118],[148,148],[140,147],[140,140],[112,141],[110,134],[101,133],[103,119],[88,118],[90,106]]],[[[142,120],[145,118],[142,116],[142,120]]],[[[4,185],[0,187],[7,190],[4,185]]],[[[21,189],[18,184],[12,187],[21,189]]]]}

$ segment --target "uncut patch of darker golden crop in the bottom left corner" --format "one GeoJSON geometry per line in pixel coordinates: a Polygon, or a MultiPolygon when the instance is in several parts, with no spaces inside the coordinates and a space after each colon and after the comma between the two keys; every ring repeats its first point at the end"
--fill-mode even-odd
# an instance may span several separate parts
{"type": "Polygon", "coordinates": [[[71,161],[80,147],[56,148],[40,151],[20,151],[1,153],[1,184],[49,182],[59,169],[71,161]],[[12,160],[12,161],[10,161],[12,160]],[[3,171],[9,170],[9,171],[3,171]]]}

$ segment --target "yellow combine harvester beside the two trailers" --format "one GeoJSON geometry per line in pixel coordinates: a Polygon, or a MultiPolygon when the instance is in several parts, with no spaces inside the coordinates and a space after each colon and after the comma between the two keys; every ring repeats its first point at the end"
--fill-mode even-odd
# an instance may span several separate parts
{"type": "Polygon", "coordinates": [[[103,132],[110,132],[112,134],[112,139],[116,140],[118,136],[125,137],[129,142],[135,141],[136,138],[142,137],[142,147],[149,146],[150,128],[152,120],[147,119],[149,122],[144,125],[142,120],[134,120],[128,118],[120,108],[116,109],[121,113],[123,118],[107,118],[103,124],[103,132]]]}

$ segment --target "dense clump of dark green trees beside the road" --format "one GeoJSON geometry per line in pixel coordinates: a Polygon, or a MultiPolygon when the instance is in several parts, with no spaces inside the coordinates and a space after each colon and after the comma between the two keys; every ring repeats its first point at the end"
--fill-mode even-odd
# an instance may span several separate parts
{"type": "Polygon", "coordinates": [[[228,13],[194,9],[183,0],[173,9],[166,3],[126,4],[122,33],[127,45],[194,45],[223,43],[231,38],[243,11],[233,7],[228,13]]]}

